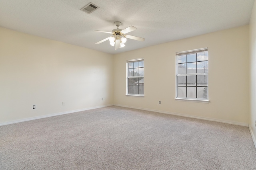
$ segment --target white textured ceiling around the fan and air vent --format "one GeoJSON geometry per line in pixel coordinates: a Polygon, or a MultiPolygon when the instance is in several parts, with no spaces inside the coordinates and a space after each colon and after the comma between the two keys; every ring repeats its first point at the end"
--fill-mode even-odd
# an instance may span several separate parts
{"type": "Polygon", "coordinates": [[[254,0],[0,0],[0,26],[56,41],[116,54],[249,23],[254,0]],[[80,11],[92,2],[100,8],[80,11]],[[120,29],[145,38],[128,39],[115,50],[95,43],[120,29]]]}

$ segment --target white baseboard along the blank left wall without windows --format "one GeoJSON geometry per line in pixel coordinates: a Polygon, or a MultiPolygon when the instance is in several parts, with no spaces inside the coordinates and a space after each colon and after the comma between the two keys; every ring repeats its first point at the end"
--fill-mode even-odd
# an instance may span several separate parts
{"type": "Polygon", "coordinates": [[[104,105],[104,106],[89,107],[89,108],[77,109],[77,110],[71,110],[71,111],[65,111],[65,112],[60,112],[60,113],[53,113],[53,114],[50,114],[50,115],[43,115],[43,116],[38,116],[38,117],[31,117],[31,118],[26,118],[26,119],[19,119],[19,120],[15,120],[15,121],[8,121],[8,122],[0,123],[0,126],[9,125],[9,124],[13,124],[13,123],[20,123],[20,122],[23,122],[23,121],[30,121],[30,120],[42,119],[42,118],[46,118],[46,117],[64,115],[64,114],[68,114],[68,113],[75,113],[75,112],[78,112],[78,111],[85,111],[85,110],[91,110],[91,109],[98,109],[98,108],[108,107],[108,106],[113,106],[113,104],[104,105]]]}

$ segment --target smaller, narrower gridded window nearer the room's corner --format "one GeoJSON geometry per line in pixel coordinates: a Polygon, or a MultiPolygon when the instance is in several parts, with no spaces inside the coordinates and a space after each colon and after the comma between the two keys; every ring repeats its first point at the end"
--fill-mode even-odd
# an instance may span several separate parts
{"type": "Polygon", "coordinates": [[[144,60],[127,61],[127,95],[144,96],[144,60]]]}

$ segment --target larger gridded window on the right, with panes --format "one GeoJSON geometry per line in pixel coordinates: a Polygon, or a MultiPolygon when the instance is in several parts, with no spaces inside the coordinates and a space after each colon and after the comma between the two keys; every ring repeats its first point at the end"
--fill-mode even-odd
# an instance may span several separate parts
{"type": "Polygon", "coordinates": [[[176,99],[208,101],[208,49],[176,53],[176,99]]]}

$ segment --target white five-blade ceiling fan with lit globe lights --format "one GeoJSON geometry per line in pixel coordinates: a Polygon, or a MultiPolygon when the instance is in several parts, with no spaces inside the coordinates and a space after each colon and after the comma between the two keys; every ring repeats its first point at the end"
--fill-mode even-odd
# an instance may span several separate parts
{"type": "Polygon", "coordinates": [[[119,21],[116,21],[115,25],[117,26],[117,28],[113,29],[112,32],[96,30],[97,32],[110,33],[110,34],[112,34],[112,36],[107,37],[105,39],[102,39],[101,41],[99,41],[95,44],[100,44],[100,43],[102,43],[104,41],[107,41],[109,39],[110,45],[115,47],[115,49],[119,49],[119,48],[122,48],[122,47],[125,46],[124,43],[127,40],[126,38],[134,39],[134,40],[137,40],[137,41],[144,41],[145,40],[144,38],[141,38],[141,37],[136,37],[136,36],[133,36],[133,35],[126,35],[126,33],[129,33],[131,31],[136,30],[137,29],[136,27],[130,26],[130,27],[127,27],[126,29],[119,29],[119,26],[121,25],[121,22],[119,22],[119,21]]]}

